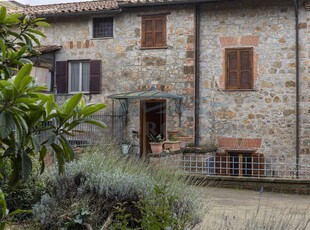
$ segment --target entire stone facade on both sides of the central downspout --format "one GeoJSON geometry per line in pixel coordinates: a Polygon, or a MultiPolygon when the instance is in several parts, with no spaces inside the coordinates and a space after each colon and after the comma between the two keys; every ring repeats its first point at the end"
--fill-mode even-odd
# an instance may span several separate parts
{"type": "MultiPolygon", "coordinates": [[[[114,37],[92,39],[92,17],[56,17],[43,44],[62,45],[57,61],[102,60],[103,93],[147,90],[183,95],[181,126],[168,101],[167,129],[194,135],[195,8],[125,9],[114,16],[114,37]],[[141,12],[167,14],[167,48],[141,49],[141,12]],[[171,110],[172,112],[169,112],[171,110]]],[[[310,154],[310,11],[300,7],[301,154],[310,154]]],[[[237,1],[203,4],[200,31],[200,142],[220,138],[259,140],[266,156],[295,156],[296,43],[293,1],[237,1]],[[253,48],[254,89],[225,90],[226,48],[253,48]]],[[[139,101],[129,105],[128,130],[139,129],[139,101]]],[[[251,143],[251,142],[249,142],[251,143]]],[[[251,146],[249,146],[251,147],[251,146]]],[[[252,146],[253,147],[253,146],[252,146]]]]}

